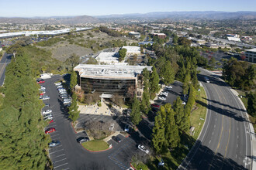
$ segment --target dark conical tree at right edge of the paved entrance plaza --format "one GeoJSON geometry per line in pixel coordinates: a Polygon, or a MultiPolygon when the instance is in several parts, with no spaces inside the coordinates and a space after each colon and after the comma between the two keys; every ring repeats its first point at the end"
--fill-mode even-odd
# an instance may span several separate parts
{"type": "Polygon", "coordinates": [[[130,118],[134,125],[139,124],[141,121],[140,103],[136,95],[133,98],[132,112],[130,113],[130,118]]]}

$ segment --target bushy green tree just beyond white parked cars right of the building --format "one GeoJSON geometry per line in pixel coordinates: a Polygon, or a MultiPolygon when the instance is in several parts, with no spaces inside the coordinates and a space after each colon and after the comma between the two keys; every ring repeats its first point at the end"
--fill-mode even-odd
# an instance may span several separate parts
{"type": "Polygon", "coordinates": [[[173,83],[175,81],[175,73],[173,67],[171,66],[171,62],[165,62],[161,76],[163,77],[165,85],[168,85],[169,83],[173,83]]]}

